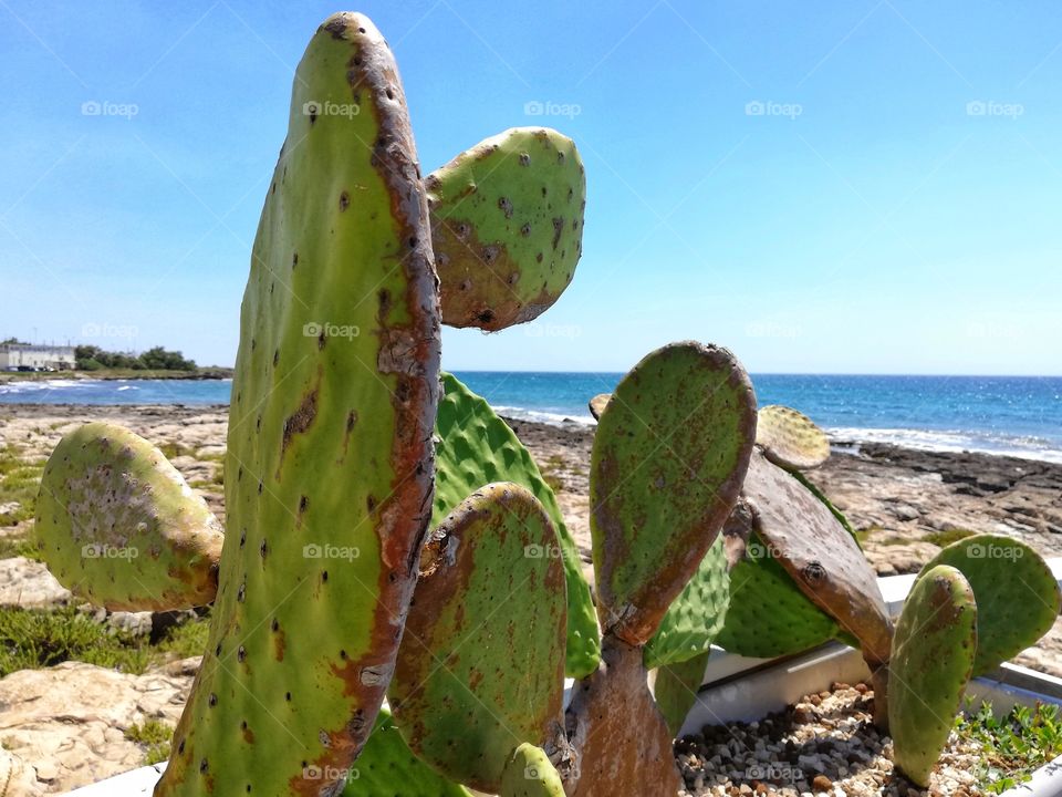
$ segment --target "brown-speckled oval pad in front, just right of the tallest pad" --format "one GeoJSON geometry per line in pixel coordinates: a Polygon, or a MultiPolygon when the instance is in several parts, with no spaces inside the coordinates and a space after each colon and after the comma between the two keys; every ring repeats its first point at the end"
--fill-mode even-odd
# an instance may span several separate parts
{"type": "Polygon", "coordinates": [[[564,569],[542,505],[488,485],[431,534],[391,686],[410,748],[452,780],[497,791],[521,742],[561,733],[564,569]]]}

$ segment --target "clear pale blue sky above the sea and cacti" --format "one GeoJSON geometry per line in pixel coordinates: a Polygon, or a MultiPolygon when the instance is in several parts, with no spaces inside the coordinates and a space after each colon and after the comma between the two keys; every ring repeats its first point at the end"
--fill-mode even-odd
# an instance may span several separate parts
{"type": "MultiPolygon", "coordinates": [[[[231,364],[292,71],[336,10],[0,0],[0,337],[231,364]]],[[[696,338],[757,372],[1062,373],[1054,0],[356,10],[425,170],[528,124],[586,165],[568,292],[530,330],[447,330],[447,368],[696,338]]]]}

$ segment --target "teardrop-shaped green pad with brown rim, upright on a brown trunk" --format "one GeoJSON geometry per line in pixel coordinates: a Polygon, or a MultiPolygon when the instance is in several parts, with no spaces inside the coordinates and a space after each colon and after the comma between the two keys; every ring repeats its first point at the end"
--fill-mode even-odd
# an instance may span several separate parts
{"type": "Polygon", "coordinates": [[[590,469],[602,627],[645,644],[733,508],[756,435],[756,396],[726,349],[648,354],[601,416],[590,469]]]}

